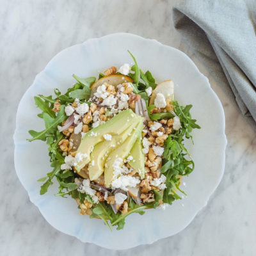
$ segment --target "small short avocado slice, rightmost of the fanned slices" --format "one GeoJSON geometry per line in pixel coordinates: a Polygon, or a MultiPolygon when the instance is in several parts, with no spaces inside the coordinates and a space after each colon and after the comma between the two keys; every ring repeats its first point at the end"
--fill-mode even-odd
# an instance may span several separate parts
{"type": "Polygon", "coordinates": [[[141,144],[141,137],[138,138],[132,149],[130,156],[132,156],[132,161],[129,161],[128,163],[131,165],[131,167],[138,171],[140,174],[141,179],[144,179],[145,177],[145,156],[142,152],[142,144],[141,144]]]}

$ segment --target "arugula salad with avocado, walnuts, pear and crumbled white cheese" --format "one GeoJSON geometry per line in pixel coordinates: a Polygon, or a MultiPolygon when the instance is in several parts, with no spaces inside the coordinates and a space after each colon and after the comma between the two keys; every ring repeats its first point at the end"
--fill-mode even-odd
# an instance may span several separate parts
{"type": "Polygon", "coordinates": [[[174,100],[173,81],[156,84],[131,57],[132,67],[110,67],[99,79],[73,74],[65,94],[56,88],[54,97],[36,96],[45,129],[29,131],[29,141],[49,146],[52,171],[38,180],[40,194],[57,180],[56,196],[71,196],[80,214],[110,230],[124,228],[129,214],[165,209],[186,195],[180,181],[195,164],[184,140],[200,129],[192,105],[174,100]]]}

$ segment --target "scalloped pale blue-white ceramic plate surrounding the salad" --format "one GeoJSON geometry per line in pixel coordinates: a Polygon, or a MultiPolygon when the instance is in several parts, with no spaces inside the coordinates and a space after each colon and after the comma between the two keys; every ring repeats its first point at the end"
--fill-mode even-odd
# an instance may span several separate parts
{"type": "Polygon", "coordinates": [[[20,100],[14,135],[15,168],[29,198],[54,228],[75,236],[83,242],[122,250],[150,244],[163,237],[172,236],[189,225],[196,213],[207,204],[209,196],[220,183],[225,166],[225,118],[220,100],[212,91],[208,79],[203,76],[186,54],[127,33],[117,33],[90,39],[61,51],[35,78],[34,83],[20,100]],[[101,220],[89,219],[78,214],[72,198],[54,196],[57,184],[40,196],[40,182],[36,180],[50,172],[47,145],[44,141],[29,143],[29,129],[41,131],[44,124],[36,115],[33,97],[52,95],[54,88],[61,92],[74,83],[72,74],[80,77],[97,76],[97,70],[131,63],[127,49],[136,57],[142,70],[150,70],[157,83],[172,79],[175,83],[175,99],[180,104],[193,104],[191,113],[202,129],[195,130],[195,145],[187,143],[195,160],[195,171],[183,180],[188,196],[177,200],[165,211],[148,210],[143,216],[131,214],[124,230],[109,232],[101,220]]]}

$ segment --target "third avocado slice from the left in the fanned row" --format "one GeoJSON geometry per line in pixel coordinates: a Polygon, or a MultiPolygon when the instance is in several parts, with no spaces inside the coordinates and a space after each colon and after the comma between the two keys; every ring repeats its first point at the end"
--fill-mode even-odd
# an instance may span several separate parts
{"type": "Polygon", "coordinates": [[[108,188],[111,185],[111,182],[113,180],[113,164],[117,158],[125,159],[135,141],[141,136],[141,132],[143,129],[143,118],[140,118],[139,124],[133,129],[131,136],[129,136],[120,147],[117,147],[115,150],[113,150],[106,160],[106,164],[104,167],[104,179],[105,179],[105,185],[108,188]]]}

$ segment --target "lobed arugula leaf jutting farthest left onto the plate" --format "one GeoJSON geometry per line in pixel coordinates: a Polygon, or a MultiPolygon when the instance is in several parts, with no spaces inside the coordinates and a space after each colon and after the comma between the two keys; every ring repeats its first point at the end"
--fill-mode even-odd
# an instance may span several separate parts
{"type": "Polygon", "coordinates": [[[52,118],[49,116],[47,113],[44,113],[44,122],[45,122],[45,130],[36,132],[33,130],[29,131],[29,134],[33,137],[29,139],[28,141],[33,141],[33,140],[42,140],[45,141],[47,138],[47,134],[54,132],[55,129],[57,129],[58,124],[63,122],[67,116],[65,115],[64,112],[64,105],[61,105],[60,112],[58,112],[58,115],[56,118],[52,118]]]}

